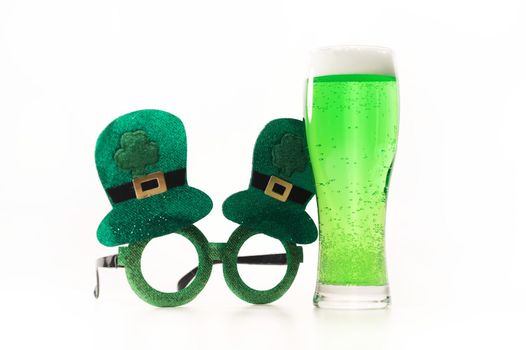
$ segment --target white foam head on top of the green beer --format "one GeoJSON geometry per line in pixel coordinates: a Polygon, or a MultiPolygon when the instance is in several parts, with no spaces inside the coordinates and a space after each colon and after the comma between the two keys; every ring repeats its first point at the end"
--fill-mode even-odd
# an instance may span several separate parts
{"type": "Polygon", "coordinates": [[[393,52],[377,46],[329,46],[311,52],[311,77],[337,74],[395,76],[393,52]]]}

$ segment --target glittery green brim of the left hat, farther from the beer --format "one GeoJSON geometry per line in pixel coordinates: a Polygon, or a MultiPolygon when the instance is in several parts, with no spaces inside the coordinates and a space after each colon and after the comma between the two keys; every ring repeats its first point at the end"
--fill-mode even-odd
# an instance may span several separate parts
{"type": "Polygon", "coordinates": [[[149,240],[189,226],[211,210],[208,195],[187,185],[180,186],[117,204],[100,223],[97,238],[108,247],[149,240]]]}

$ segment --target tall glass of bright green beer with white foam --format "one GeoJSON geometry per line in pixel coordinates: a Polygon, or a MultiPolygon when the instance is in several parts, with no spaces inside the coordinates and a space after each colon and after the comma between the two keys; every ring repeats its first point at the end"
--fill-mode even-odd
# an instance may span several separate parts
{"type": "Polygon", "coordinates": [[[320,227],[318,307],[389,305],[384,226],[398,119],[389,49],[312,52],[305,124],[320,227]]]}

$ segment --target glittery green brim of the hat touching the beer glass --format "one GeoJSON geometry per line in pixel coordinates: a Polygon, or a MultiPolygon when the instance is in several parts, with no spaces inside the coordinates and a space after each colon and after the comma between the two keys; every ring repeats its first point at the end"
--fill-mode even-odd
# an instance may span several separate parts
{"type": "Polygon", "coordinates": [[[318,237],[318,229],[304,206],[280,202],[258,189],[228,197],[223,203],[223,214],[238,224],[285,241],[308,244],[318,237]]]}

